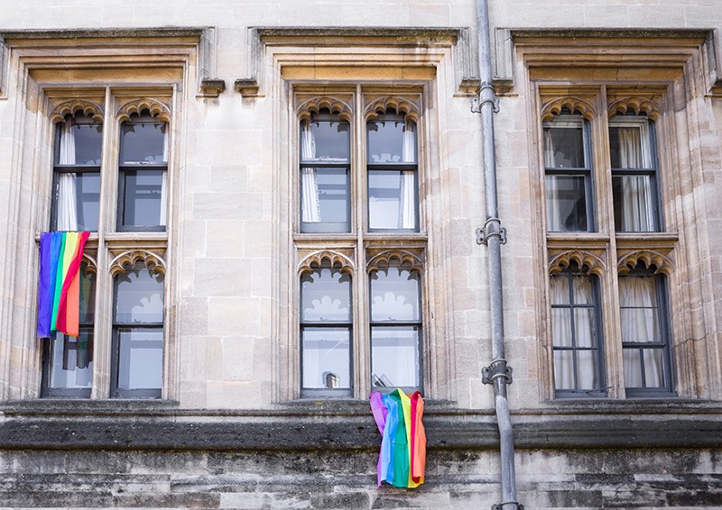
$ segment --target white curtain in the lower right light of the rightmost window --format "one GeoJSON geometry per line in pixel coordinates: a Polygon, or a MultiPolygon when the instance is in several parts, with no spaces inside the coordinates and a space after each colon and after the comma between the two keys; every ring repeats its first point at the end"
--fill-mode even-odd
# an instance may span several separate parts
{"type": "MultiPolygon", "coordinates": [[[[622,342],[657,342],[656,280],[653,276],[619,278],[622,342]]],[[[662,349],[625,348],[625,387],[663,387],[662,349]],[[640,358],[643,354],[643,359],[640,358]],[[644,381],[642,379],[644,364],[644,381]]]]}

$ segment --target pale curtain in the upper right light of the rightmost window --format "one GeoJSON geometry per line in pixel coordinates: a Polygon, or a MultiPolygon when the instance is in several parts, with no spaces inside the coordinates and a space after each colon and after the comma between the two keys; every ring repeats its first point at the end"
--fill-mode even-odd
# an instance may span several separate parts
{"type": "MultiPolygon", "coordinates": [[[[649,147],[638,127],[617,128],[621,168],[651,168],[649,147]]],[[[644,137],[646,138],[646,137],[644,137]]],[[[618,177],[622,184],[622,224],[624,232],[655,230],[652,182],[648,176],[618,177]]]]}

